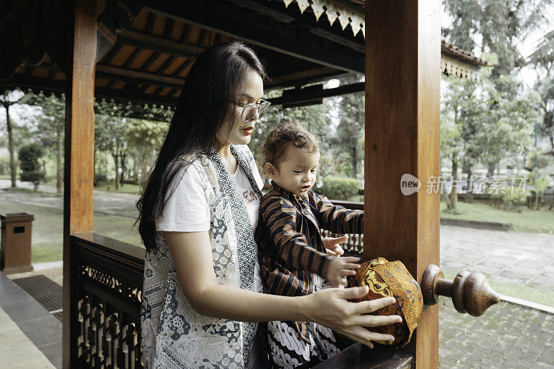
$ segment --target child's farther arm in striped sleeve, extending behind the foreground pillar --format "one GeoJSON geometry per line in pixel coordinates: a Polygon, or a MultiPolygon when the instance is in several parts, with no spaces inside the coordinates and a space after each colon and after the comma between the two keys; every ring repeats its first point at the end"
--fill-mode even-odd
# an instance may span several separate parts
{"type": "Polygon", "coordinates": [[[334,205],[327,197],[312,193],[317,204],[315,215],[324,229],[340,234],[364,232],[364,210],[351,210],[334,205]]]}

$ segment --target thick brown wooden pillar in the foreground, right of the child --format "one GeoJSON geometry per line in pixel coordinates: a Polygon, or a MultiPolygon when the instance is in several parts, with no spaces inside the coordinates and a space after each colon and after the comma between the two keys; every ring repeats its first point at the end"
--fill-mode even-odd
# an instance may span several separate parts
{"type": "MultiPolygon", "coordinates": [[[[439,264],[439,14],[438,0],[366,1],[364,260],[401,260],[418,282],[439,264]],[[403,195],[404,174],[418,192],[403,195]]],[[[416,332],[417,367],[438,368],[438,305],[416,332]]]]}

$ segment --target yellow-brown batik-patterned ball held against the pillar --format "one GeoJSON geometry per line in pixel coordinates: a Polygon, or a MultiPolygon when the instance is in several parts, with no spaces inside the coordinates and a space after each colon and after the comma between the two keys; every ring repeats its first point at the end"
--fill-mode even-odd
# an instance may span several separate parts
{"type": "Polygon", "coordinates": [[[357,269],[355,276],[348,277],[348,287],[365,285],[369,287],[368,294],[352,301],[394,297],[395,304],[382,307],[370,314],[402,317],[402,323],[367,327],[372,332],[392,334],[395,337],[394,342],[376,342],[395,347],[408,343],[415,327],[418,326],[418,319],[423,310],[423,296],[418,282],[413,279],[402,262],[388,262],[385,258],[377,258],[370,262],[364,262],[361,264],[361,268],[357,269]]]}

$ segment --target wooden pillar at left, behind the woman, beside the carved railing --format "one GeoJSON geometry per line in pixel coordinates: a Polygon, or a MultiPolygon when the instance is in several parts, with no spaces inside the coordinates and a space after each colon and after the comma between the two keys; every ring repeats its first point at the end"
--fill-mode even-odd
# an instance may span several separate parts
{"type": "Polygon", "coordinates": [[[75,263],[70,236],[92,232],[94,163],[94,66],[96,0],[66,0],[65,14],[65,165],[64,165],[64,321],[63,367],[75,366],[75,263]]]}

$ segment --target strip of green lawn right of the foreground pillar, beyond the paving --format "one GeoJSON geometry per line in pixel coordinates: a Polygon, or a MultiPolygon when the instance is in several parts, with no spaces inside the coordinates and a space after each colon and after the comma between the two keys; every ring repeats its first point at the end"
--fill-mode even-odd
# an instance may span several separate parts
{"type": "Polygon", "coordinates": [[[511,223],[514,231],[531,233],[554,233],[554,210],[529,210],[521,208],[521,212],[511,212],[493,208],[488,204],[474,202],[472,204],[458,201],[461,214],[447,213],[446,203],[440,203],[440,217],[448,219],[476,220],[480,222],[511,223]]]}

